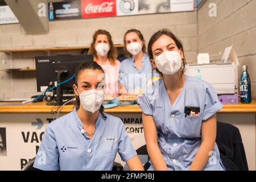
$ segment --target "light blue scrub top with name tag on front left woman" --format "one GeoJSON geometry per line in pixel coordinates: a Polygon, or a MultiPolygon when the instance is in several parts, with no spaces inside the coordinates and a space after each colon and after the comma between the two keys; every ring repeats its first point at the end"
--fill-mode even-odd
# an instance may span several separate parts
{"type": "MultiPolygon", "coordinates": [[[[104,113],[105,114],[105,113],[104,113]]],[[[126,162],[137,155],[121,119],[98,115],[92,140],[76,110],[49,123],[34,167],[42,170],[110,171],[117,152],[126,162]]]]}

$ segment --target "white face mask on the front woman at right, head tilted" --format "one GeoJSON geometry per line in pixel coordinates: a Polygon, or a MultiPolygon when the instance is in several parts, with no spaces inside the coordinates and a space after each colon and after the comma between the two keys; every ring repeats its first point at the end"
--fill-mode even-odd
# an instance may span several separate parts
{"type": "Polygon", "coordinates": [[[164,75],[173,75],[181,68],[182,60],[177,51],[164,51],[155,58],[156,68],[164,75]]]}

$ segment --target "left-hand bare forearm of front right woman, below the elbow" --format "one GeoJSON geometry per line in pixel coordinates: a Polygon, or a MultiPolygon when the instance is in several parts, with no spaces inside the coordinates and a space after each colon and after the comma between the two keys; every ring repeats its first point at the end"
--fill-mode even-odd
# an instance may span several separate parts
{"type": "Polygon", "coordinates": [[[147,144],[147,152],[156,171],[167,171],[167,165],[157,143],[147,144]]]}

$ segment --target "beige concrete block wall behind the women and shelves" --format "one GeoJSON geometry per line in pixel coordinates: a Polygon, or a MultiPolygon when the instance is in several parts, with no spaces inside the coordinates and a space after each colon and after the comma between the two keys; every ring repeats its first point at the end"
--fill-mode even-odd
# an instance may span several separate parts
{"type": "MultiPolygon", "coordinates": [[[[123,34],[130,28],[142,31],[146,42],[160,28],[170,28],[183,42],[187,60],[196,63],[198,52],[214,55],[231,44],[241,65],[248,65],[253,98],[256,98],[256,0],[207,0],[197,11],[139,16],[77,19],[49,22],[46,35],[27,35],[20,24],[0,25],[0,48],[89,46],[94,31],[108,30],[114,44],[123,43],[123,34]],[[209,17],[209,3],[217,5],[217,17],[209,17]]],[[[80,53],[79,51],[53,51],[80,53]]],[[[47,52],[0,53],[0,69],[35,68],[34,57],[47,52]],[[12,58],[11,58],[12,57],[12,58]],[[12,63],[11,63],[12,60],[12,63]]],[[[219,60],[221,56],[212,56],[219,60]]],[[[0,72],[0,98],[30,97],[36,93],[35,72],[0,72]],[[20,79],[24,84],[19,85],[20,79]],[[27,86],[30,85],[30,86],[27,86]]]]}

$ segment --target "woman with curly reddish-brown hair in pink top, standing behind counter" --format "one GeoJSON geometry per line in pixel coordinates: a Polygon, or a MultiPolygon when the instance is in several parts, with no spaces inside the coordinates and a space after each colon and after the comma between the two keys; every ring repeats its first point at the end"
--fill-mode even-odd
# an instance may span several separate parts
{"type": "Polygon", "coordinates": [[[120,61],[117,60],[117,51],[108,31],[100,29],[94,32],[88,54],[93,55],[94,61],[104,69],[106,75],[105,93],[118,96],[120,61]]]}

